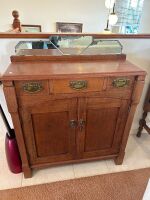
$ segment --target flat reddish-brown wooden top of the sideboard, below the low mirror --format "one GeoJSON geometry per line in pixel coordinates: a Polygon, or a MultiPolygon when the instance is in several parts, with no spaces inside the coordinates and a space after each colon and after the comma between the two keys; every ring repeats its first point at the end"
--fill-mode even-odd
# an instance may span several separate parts
{"type": "Polygon", "coordinates": [[[2,80],[142,75],[146,72],[127,60],[12,62],[2,80]]]}

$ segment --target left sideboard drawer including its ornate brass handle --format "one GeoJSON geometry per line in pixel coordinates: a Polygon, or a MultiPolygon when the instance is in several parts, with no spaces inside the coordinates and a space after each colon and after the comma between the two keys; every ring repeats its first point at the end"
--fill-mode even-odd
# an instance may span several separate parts
{"type": "Polygon", "coordinates": [[[49,81],[15,81],[17,95],[48,95],[49,81]]]}

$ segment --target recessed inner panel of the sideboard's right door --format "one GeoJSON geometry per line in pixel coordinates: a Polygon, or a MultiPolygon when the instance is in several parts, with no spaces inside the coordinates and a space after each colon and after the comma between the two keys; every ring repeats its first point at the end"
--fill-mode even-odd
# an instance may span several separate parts
{"type": "Polygon", "coordinates": [[[87,111],[85,151],[111,148],[119,109],[99,108],[87,111]]]}

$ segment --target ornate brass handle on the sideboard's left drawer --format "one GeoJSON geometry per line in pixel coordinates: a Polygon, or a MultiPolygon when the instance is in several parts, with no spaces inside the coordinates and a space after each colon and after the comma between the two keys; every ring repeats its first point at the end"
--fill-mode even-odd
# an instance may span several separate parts
{"type": "Polygon", "coordinates": [[[37,93],[43,90],[43,86],[39,82],[28,82],[23,85],[23,91],[28,93],[37,93]]]}

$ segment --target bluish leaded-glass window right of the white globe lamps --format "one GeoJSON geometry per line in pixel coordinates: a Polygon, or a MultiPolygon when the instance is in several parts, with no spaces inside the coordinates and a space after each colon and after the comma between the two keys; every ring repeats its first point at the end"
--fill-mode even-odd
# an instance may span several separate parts
{"type": "Polygon", "coordinates": [[[138,33],[144,0],[116,0],[118,25],[122,33],[138,33]]]}

